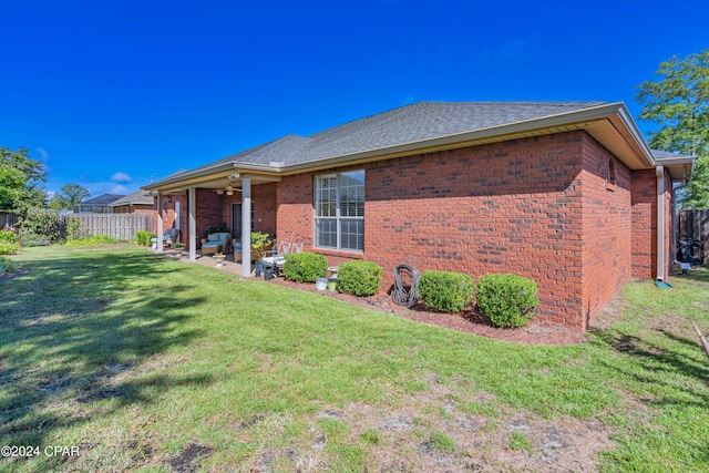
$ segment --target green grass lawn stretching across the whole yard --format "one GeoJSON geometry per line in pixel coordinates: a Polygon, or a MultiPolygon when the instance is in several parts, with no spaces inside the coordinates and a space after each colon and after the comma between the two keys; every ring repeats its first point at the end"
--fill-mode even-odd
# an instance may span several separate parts
{"type": "Polygon", "coordinates": [[[40,452],[0,470],[709,471],[708,271],[534,347],[131,245],[11,259],[0,445],[40,452]]]}

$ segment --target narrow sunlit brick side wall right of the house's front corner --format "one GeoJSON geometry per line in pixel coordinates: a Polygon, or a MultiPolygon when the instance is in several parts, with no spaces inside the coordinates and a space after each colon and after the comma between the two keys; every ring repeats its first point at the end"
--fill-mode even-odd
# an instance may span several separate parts
{"type": "Polygon", "coordinates": [[[630,169],[589,135],[584,136],[584,312],[595,317],[630,279],[630,169]],[[615,184],[608,183],[608,162],[615,184]]]}

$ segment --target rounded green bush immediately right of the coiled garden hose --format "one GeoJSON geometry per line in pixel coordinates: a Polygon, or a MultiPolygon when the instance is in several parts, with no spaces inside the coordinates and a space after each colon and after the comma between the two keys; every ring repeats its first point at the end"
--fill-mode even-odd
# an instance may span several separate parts
{"type": "Polygon", "coordinates": [[[421,302],[439,312],[460,312],[473,299],[473,278],[462,273],[424,271],[419,279],[421,302]]]}

